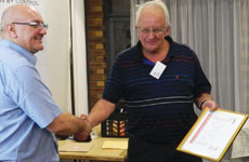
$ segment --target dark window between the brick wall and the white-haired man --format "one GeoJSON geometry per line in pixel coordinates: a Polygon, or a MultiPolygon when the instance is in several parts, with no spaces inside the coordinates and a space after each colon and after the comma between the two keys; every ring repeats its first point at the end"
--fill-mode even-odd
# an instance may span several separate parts
{"type": "Polygon", "coordinates": [[[109,0],[105,4],[107,31],[107,72],[119,52],[130,46],[130,1],[109,0]]]}

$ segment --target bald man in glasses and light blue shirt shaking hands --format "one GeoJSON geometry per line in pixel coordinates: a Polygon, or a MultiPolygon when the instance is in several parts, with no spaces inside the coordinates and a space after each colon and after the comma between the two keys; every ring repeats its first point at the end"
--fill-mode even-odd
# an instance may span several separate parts
{"type": "Polygon", "coordinates": [[[1,162],[58,162],[54,134],[83,139],[91,132],[87,120],[62,112],[35,67],[47,28],[25,4],[8,8],[1,17],[1,162]]]}

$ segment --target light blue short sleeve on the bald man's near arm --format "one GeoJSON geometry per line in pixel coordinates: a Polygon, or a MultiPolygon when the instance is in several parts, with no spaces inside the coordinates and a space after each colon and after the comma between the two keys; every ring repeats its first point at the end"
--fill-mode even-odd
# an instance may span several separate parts
{"type": "Polygon", "coordinates": [[[47,127],[62,113],[35,67],[17,68],[8,83],[8,95],[41,129],[47,127]]]}

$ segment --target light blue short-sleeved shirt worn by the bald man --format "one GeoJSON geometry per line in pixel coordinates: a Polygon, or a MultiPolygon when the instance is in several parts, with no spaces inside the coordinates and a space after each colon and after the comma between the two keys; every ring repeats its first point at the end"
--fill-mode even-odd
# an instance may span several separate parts
{"type": "Polygon", "coordinates": [[[0,161],[57,162],[56,139],[45,127],[62,113],[36,69],[36,56],[0,42],[0,161]]]}

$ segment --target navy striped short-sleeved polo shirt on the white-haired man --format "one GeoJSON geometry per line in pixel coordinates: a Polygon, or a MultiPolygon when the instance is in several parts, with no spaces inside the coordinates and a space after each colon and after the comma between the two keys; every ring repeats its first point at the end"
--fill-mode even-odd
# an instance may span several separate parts
{"type": "Polygon", "coordinates": [[[197,116],[194,99],[211,85],[194,51],[170,37],[167,66],[159,79],[149,75],[155,64],[142,53],[141,42],[121,52],[107,79],[103,99],[126,100],[129,135],[148,141],[180,141],[197,116]]]}

